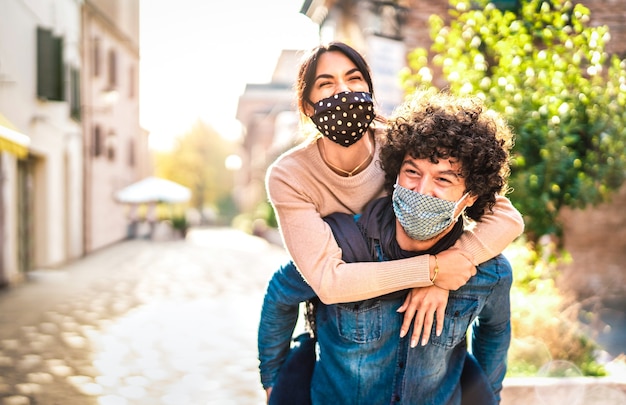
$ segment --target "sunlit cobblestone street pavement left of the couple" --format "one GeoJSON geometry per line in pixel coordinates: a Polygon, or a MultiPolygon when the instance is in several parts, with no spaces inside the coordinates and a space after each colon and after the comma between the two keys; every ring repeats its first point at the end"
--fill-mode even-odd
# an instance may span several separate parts
{"type": "Polygon", "coordinates": [[[285,260],[202,229],[32,272],[0,293],[0,404],[263,404],[256,330],[285,260]]]}

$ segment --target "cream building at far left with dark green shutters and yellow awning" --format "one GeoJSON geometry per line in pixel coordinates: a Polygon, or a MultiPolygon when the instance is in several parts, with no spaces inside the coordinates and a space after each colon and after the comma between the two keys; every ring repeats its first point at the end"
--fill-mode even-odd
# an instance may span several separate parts
{"type": "Polygon", "coordinates": [[[70,91],[80,2],[7,0],[0,21],[0,113],[29,139],[27,153],[1,158],[2,274],[11,283],[82,254],[82,132],[70,91]]]}

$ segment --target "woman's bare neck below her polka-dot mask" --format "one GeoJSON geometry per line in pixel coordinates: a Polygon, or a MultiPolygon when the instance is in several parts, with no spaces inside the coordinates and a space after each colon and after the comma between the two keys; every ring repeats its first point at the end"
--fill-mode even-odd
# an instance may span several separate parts
{"type": "Polygon", "coordinates": [[[374,137],[367,131],[354,145],[345,147],[327,139],[320,138],[317,147],[326,166],[344,177],[351,177],[362,172],[374,157],[374,137]]]}

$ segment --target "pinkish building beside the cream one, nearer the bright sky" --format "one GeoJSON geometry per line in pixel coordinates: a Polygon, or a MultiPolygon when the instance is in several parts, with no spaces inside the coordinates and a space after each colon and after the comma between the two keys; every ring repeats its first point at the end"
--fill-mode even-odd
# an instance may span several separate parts
{"type": "Polygon", "coordinates": [[[90,253],[127,235],[116,191],[150,173],[139,125],[139,0],[86,0],[82,7],[84,240],[90,253]]]}

